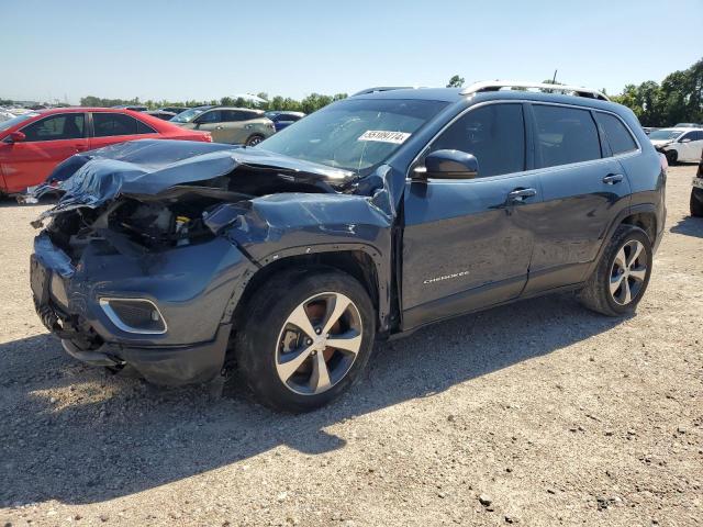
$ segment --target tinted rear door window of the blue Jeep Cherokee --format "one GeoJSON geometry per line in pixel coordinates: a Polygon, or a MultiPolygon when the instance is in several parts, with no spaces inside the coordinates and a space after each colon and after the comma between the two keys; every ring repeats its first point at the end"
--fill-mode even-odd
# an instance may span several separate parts
{"type": "Polygon", "coordinates": [[[534,104],[533,111],[543,167],[601,158],[601,144],[591,112],[546,104],[534,104]]]}

